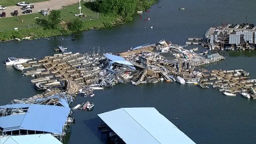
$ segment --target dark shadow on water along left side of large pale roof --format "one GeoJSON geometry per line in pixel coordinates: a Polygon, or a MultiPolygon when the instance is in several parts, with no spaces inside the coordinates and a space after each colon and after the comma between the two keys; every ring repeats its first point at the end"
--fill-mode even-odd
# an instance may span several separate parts
{"type": "Polygon", "coordinates": [[[88,128],[92,131],[92,133],[101,140],[102,143],[107,143],[107,138],[105,133],[102,133],[100,129],[98,129],[98,125],[101,123],[101,119],[99,117],[95,117],[92,119],[84,120],[84,125],[88,126],[88,128]]]}

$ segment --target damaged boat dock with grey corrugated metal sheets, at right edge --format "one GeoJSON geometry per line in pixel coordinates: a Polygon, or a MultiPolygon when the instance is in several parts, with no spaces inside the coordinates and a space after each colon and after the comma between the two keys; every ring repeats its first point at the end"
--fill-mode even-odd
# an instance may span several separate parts
{"type": "Polygon", "coordinates": [[[212,49],[254,50],[256,44],[256,26],[254,24],[228,24],[211,27],[205,33],[207,43],[212,49]]]}

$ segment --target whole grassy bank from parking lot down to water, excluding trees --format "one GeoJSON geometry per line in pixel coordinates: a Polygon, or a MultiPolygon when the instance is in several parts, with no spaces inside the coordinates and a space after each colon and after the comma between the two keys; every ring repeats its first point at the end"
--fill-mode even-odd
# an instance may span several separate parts
{"type": "MultiPolygon", "coordinates": [[[[70,20],[74,18],[74,14],[79,13],[78,4],[66,6],[64,7],[64,9],[60,10],[61,18],[63,21],[62,21],[62,26],[58,27],[57,29],[48,29],[45,27],[45,25],[34,26],[29,28],[27,27],[18,28],[18,31],[15,31],[13,29],[7,29],[7,30],[5,29],[0,32],[0,40],[6,41],[14,38],[24,38],[28,36],[31,36],[33,38],[38,38],[38,37],[51,37],[51,36],[56,36],[60,34],[68,35],[81,30],[101,29],[101,28],[111,27],[113,25],[120,25],[127,21],[132,20],[130,18],[129,20],[127,20],[127,18],[124,16],[112,14],[112,13],[100,13],[99,18],[92,19],[93,17],[97,16],[97,13],[92,11],[94,10],[93,9],[94,3],[84,3],[81,6],[82,6],[81,13],[86,15],[86,17],[79,17],[79,19],[82,20],[82,24],[81,24],[81,27],[76,31],[72,31],[68,29],[67,24],[70,20]]],[[[24,16],[23,18],[10,17],[10,18],[4,18],[1,20],[2,21],[0,21],[0,29],[4,29],[8,27],[27,26],[28,24],[30,26],[44,24],[47,20],[47,16],[42,16],[40,14],[30,14],[30,15],[24,16]],[[35,17],[39,17],[39,18],[35,19],[35,17]],[[23,23],[19,19],[24,19],[23,23]]]]}

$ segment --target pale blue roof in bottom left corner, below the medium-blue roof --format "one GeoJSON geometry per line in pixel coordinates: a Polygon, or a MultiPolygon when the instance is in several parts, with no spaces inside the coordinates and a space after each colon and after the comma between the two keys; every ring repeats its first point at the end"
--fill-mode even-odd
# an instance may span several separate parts
{"type": "Polygon", "coordinates": [[[0,138],[0,144],[62,144],[51,134],[6,136],[0,138]]]}

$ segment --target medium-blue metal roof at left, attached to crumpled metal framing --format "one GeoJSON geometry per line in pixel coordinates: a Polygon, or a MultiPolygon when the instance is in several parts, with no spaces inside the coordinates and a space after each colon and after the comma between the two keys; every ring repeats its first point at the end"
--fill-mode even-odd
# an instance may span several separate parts
{"type": "MultiPolygon", "coordinates": [[[[24,104],[2,107],[18,108],[19,105],[24,107],[24,104]]],[[[70,108],[37,104],[28,104],[27,107],[26,113],[0,117],[0,127],[4,129],[4,132],[23,129],[62,134],[62,127],[67,120],[70,108]]]]}

